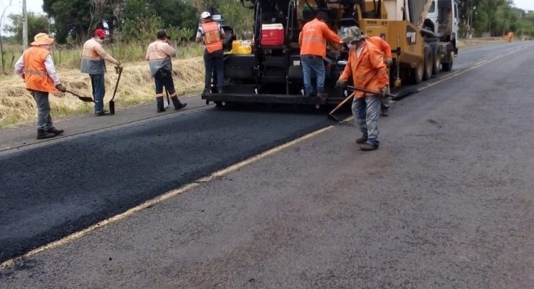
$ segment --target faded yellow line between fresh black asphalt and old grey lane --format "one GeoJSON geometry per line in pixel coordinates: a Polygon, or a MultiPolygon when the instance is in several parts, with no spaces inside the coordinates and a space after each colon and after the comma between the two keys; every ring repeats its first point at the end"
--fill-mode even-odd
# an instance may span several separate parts
{"type": "Polygon", "coordinates": [[[132,214],[137,213],[138,211],[142,211],[144,209],[150,208],[152,206],[155,206],[157,204],[161,204],[164,201],[167,201],[168,199],[173,198],[174,196],[177,196],[179,194],[185,193],[187,191],[191,191],[192,189],[196,188],[197,186],[200,186],[202,183],[211,182],[216,178],[223,177],[226,174],[230,174],[231,172],[236,172],[238,169],[242,169],[243,167],[247,167],[248,165],[251,165],[255,162],[258,162],[261,159],[266,159],[267,157],[272,156],[273,154],[276,154],[278,152],[281,152],[283,149],[287,149],[288,147],[292,147],[295,144],[298,144],[300,142],[304,142],[305,140],[309,140],[310,138],[313,138],[317,135],[322,134],[323,132],[326,132],[330,129],[332,129],[334,126],[330,125],[328,127],[325,127],[323,129],[317,130],[315,132],[311,132],[308,135],[304,135],[303,137],[299,137],[298,139],[292,140],[290,142],[286,142],[285,144],[281,144],[278,147],[274,147],[273,149],[269,149],[266,152],[262,152],[261,154],[257,154],[254,157],[250,157],[248,159],[245,159],[242,162],[239,162],[237,164],[233,164],[230,167],[226,167],[225,169],[221,169],[217,172],[214,172],[210,174],[207,177],[203,177],[201,179],[197,179],[197,181],[186,184],[185,186],[180,187],[179,189],[174,189],[172,191],[167,191],[167,193],[162,194],[160,196],[157,196],[153,199],[150,199],[148,201],[145,201],[144,203],[140,204],[139,206],[135,206],[127,211],[125,211],[122,214],[118,214],[115,216],[112,216],[108,219],[105,219],[104,221],[100,221],[97,224],[94,224],[92,226],[89,226],[88,228],[84,228],[81,231],[72,233],[64,238],[61,238],[58,241],[53,241],[52,243],[48,243],[44,246],[41,246],[39,248],[35,248],[32,251],[29,251],[28,253],[24,254],[23,256],[9,259],[8,261],[4,261],[0,264],[0,270],[8,268],[13,266],[17,261],[22,260],[23,258],[31,257],[37,253],[40,253],[42,251],[46,251],[53,248],[58,248],[59,246],[63,246],[67,243],[70,243],[72,241],[75,241],[78,238],[81,238],[85,236],[86,234],[95,231],[98,228],[103,228],[104,226],[108,226],[110,224],[113,224],[117,221],[121,221],[123,219],[126,219],[128,216],[132,216],[132,214]]]}

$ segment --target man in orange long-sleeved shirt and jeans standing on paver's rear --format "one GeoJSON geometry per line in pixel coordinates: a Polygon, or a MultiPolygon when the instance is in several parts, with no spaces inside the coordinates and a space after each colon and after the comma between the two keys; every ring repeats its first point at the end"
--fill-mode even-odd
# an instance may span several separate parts
{"type": "Polygon", "coordinates": [[[326,25],[328,16],[325,12],[320,11],[315,19],[305,23],[300,35],[298,36],[298,45],[300,46],[300,63],[304,76],[305,96],[317,96],[326,98],[325,93],[325,63],[323,58],[326,57],[326,41],[340,43],[340,37],[328,28],[326,25]],[[316,87],[312,85],[312,74],[315,73],[317,80],[316,87]]]}

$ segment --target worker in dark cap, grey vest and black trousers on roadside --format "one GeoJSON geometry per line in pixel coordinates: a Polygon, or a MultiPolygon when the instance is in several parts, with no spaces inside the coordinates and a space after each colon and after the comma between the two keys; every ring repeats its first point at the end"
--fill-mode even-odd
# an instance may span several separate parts
{"type": "Polygon", "coordinates": [[[154,77],[156,83],[156,107],[157,112],[164,112],[163,107],[163,87],[171,96],[174,110],[184,108],[187,103],[180,103],[176,90],[174,89],[174,81],[172,80],[172,61],[171,57],[176,56],[176,51],[172,48],[172,42],[164,30],[157,31],[157,40],[150,43],[147,48],[147,55],[145,59],[150,66],[150,73],[154,77]]]}

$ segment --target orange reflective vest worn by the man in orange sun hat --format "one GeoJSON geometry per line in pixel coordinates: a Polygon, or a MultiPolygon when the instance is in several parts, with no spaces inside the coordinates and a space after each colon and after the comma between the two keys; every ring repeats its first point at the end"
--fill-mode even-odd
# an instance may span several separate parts
{"type": "Polygon", "coordinates": [[[44,65],[45,58],[50,51],[39,46],[32,46],[23,53],[24,61],[24,82],[26,89],[43,91],[46,93],[56,93],[56,85],[44,65]]]}

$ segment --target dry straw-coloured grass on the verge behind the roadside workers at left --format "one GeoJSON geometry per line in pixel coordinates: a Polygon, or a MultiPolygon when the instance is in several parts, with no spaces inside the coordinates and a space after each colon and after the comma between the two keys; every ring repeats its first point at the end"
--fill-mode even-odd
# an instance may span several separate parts
{"type": "MultiPolygon", "coordinates": [[[[80,95],[92,95],[89,75],[80,73],[78,69],[58,69],[58,75],[68,90],[80,95]]],[[[201,57],[174,60],[173,75],[178,95],[198,93],[204,88],[204,61],[201,57]]],[[[108,65],[108,73],[105,75],[106,106],[112,97],[117,76],[112,66],[108,65]]],[[[35,122],[36,104],[24,88],[21,78],[14,75],[1,76],[0,85],[0,127],[35,122]]],[[[115,105],[124,107],[154,102],[154,98],[154,79],[150,75],[148,63],[126,63],[115,95],[115,105]]],[[[83,103],[68,93],[51,95],[50,103],[53,118],[93,111],[93,103],[83,103]]]]}

